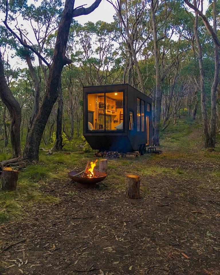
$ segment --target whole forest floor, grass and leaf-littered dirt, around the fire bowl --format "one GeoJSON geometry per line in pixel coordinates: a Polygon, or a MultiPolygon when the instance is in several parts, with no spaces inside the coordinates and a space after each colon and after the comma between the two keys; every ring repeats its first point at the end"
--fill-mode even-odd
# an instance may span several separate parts
{"type": "Polygon", "coordinates": [[[202,141],[197,121],[178,119],[162,155],[108,160],[88,190],[67,172],[94,152],[41,152],[16,191],[0,192],[1,274],[218,275],[220,148],[202,141]],[[141,199],[126,198],[127,173],[140,176],[141,199]]]}

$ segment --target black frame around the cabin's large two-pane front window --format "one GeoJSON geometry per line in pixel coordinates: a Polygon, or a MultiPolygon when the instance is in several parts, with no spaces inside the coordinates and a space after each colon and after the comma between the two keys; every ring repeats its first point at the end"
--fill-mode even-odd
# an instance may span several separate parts
{"type": "MultiPolygon", "coordinates": [[[[92,92],[87,92],[86,93],[86,131],[85,133],[100,133],[100,134],[103,134],[103,133],[125,133],[125,90],[123,89],[117,89],[115,91],[92,91],[92,92]],[[104,93],[104,104],[105,104],[105,98],[106,98],[106,93],[117,93],[117,92],[122,92],[123,93],[123,130],[106,130],[106,112],[104,111],[104,122],[105,122],[105,125],[104,125],[104,130],[100,131],[100,130],[93,130],[93,131],[89,131],[88,129],[88,95],[92,95],[92,94],[102,94],[104,93]]],[[[105,110],[105,109],[104,109],[105,110]]]]}

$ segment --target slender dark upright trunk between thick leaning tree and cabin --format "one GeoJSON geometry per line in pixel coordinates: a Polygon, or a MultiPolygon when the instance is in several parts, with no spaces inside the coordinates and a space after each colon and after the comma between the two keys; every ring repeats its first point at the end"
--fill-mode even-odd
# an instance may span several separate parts
{"type": "Polygon", "coordinates": [[[54,151],[58,152],[62,150],[62,112],[63,112],[63,99],[62,99],[62,87],[61,77],[58,86],[58,109],[56,120],[56,141],[54,143],[54,151]]]}

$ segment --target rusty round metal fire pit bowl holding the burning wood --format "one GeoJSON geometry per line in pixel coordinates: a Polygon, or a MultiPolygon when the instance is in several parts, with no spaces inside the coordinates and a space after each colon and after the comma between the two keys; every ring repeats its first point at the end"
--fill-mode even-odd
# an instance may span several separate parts
{"type": "Polygon", "coordinates": [[[79,172],[80,171],[69,172],[68,176],[69,178],[71,178],[76,182],[77,187],[83,187],[83,188],[95,187],[97,182],[104,180],[107,176],[107,174],[105,173],[94,171],[94,175],[97,176],[97,178],[85,178],[85,177],[78,177],[78,176],[75,177],[74,175],[78,174],[79,172]]]}

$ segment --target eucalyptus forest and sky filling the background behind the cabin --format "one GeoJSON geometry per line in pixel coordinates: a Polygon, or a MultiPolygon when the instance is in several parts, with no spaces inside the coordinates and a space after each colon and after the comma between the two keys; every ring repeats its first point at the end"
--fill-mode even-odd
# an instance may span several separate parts
{"type": "Polygon", "coordinates": [[[201,117],[204,147],[215,147],[220,1],[105,0],[111,23],[78,23],[100,2],[1,1],[1,144],[29,160],[41,142],[60,151],[81,134],[82,87],[128,83],[152,98],[153,145],[187,114],[201,117]]]}

